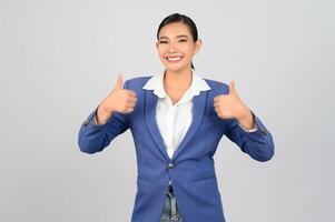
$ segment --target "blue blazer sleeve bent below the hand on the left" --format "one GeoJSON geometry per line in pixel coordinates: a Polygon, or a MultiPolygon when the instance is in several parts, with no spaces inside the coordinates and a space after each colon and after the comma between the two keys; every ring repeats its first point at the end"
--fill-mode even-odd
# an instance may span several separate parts
{"type": "MultiPolygon", "coordinates": [[[[128,89],[128,80],[124,89],[128,89]]],[[[78,145],[81,152],[96,153],[102,151],[119,134],[129,129],[129,118],[125,113],[114,112],[104,124],[96,124],[95,118],[99,105],[88,115],[78,133],[78,145]]]]}

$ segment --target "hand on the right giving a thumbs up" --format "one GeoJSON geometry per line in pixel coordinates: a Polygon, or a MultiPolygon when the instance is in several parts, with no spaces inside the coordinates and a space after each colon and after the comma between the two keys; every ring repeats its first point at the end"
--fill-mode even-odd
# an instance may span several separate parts
{"type": "Polygon", "coordinates": [[[228,94],[219,94],[214,98],[214,108],[217,115],[221,119],[235,118],[239,122],[247,119],[249,122],[250,110],[239,99],[237,91],[235,90],[235,81],[229,83],[228,94]]]}

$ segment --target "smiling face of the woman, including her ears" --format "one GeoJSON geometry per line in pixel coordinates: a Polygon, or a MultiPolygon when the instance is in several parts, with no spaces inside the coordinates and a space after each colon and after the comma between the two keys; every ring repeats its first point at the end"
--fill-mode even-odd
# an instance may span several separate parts
{"type": "Polygon", "coordinates": [[[194,42],[188,27],[174,22],[162,27],[156,43],[160,61],[167,70],[180,71],[190,68],[191,59],[201,47],[201,40],[194,42]]]}

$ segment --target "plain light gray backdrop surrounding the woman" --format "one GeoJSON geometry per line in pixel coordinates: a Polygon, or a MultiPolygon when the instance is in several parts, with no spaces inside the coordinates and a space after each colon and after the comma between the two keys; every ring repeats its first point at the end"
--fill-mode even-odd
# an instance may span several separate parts
{"type": "Polygon", "coordinates": [[[130,131],[81,153],[80,124],[125,79],[162,70],[159,22],[196,22],[197,73],[236,80],[273,133],[260,163],[226,137],[216,171],[229,222],[334,220],[335,4],[329,0],[0,1],[0,221],[129,221],[130,131]],[[333,102],[332,102],[333,101],[333,102]]]}

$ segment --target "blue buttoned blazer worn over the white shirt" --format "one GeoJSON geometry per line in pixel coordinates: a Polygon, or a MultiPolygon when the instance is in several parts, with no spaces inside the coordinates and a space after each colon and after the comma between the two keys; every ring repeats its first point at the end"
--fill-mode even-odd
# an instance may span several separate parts
{"type": "Polygon", "coordinates": [[[156,123],[158,98],[142,87],[150,77],[132,78],[124,89],[137,93],[134,112],[114,112],[107,123],[96,125],[97,108],[81,124],[78,144],[82,152],[102,151],[119,134],[130,129],[137,157],[137,194],[131,222],[159,222],[169,180],[184,222],[224,222],[224,210],[215,173],[214,154],[225,134],[257,161],[270,160],[274,142],[270,132],[253,113],[258,128],[244,131],[235,119],[223,120],[214,110],[214,98],[228,93],[228,85],[204,79],[211,90],[193,98],[193,122],[170,159],[156,123]]]}

